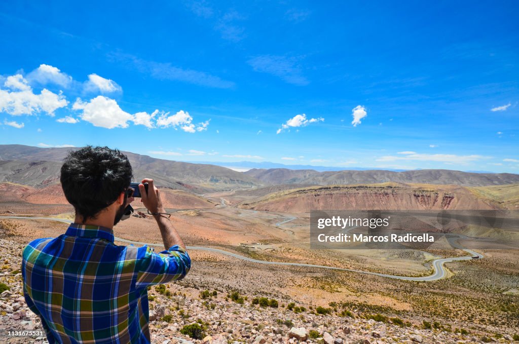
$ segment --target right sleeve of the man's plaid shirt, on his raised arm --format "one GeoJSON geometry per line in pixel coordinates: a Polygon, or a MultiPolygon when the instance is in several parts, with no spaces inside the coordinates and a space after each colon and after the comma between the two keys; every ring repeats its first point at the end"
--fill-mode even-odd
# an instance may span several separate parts
{"type": "Polygon", "coordinates": [[[139,252],[136,262],[137,288],[183,279],[191,268],[191,258],[179,245],[160,253],[155,253],[149,246],[141,247],[141,250],[145,252],[139,252]]]}

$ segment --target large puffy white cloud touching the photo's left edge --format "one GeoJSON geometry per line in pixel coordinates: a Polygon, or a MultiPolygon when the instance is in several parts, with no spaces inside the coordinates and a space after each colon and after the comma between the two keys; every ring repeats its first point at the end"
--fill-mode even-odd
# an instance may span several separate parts
{"type": "Polygon", "coordinates": [[[4,86],[8,90],[0,89],[0,112],[13,116],[39,113],[54,116],[54,111],[68,104],[61,92],[56,94],[44,88],[35,94],[21,74],[7,77],[4,86]]]}

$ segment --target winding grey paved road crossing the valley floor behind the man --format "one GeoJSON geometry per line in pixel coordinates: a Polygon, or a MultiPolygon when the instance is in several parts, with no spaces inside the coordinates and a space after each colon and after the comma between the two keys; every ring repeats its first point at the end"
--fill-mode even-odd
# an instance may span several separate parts
{"type": "MultiPolygon", "coordinates": [[[[29,216],[0,216],[0,218],[18,218],[18,219],[43,219],[43,220],[50,220],[50,221],[59,221],[64,222],[67,224],[72,223],[72,221],[64,218],[53,218],[53,217],[29,217],[29,216]]],[[[450,240],[453,240],[455,242],[456,239],[458,239],[461,236],[450,238],[450,240]]],[[[136,244],[136,245],[148,245],[148,246],[158,246],[163,247],[162,244],[155,244],[155,243],[146,243],[146,242],[140,242],[140,241],[132,241],[132,240],[126,240],[122,238],[115,237],[115,240],[120,242],[127,242],[130,244],[136,244]]],[[[450,242],[449,240],[449,242],[450,242]]],[[[325,265],[314,265],[314,264],[304,264],[304,263],[285,263],[285,262],[268,262],[266,260],[258,260],[253,259],[249,257],[245,257],[236,253],[227,252],[220,249],[213,249],[212,247],[202,247],[202,246],[187,246],[188,250],[203,250],[203,251],[210,251],[210,252],[217,252],[221,254],[225,254],[231,257],[235,257],[241,260],[246,260],[247,262],[252,263],[258,263],[258,264],[267,264],[267,265],[283,265],[283,266],[300,266],[300,267],[308,267],[308,268],[319,268],[319,269],[330,269],[330,270],[339,270],[339,271],[350,271],[350,272],[358,272],[358,273],[364,273],[364,274],[371,274],[375,276],[380,277],[387,277],[387,278],[393,278],[393,279],[399,279],[404,281],[436,281],[439,279],[442,279],[446,275],[445,263],[450,262],[457,262],[459,260],[471,260],[471,259],[482,259],[484,256],[465,249],[464,247],[461,247],[459,244],[457,244],[461,250],[466,251],[470,253],[470,256],[463,256],[463,257],[457,257],[457,258],[442,258],[442,259],[435,259],[432,262],[434,273],[430,276],[424,276],[424,277],[407,277],[407,276],[398,276],[398,275],[391,275],[391,274],[384,274],[384,273],[377,273],[377,272],[371,272],[371,271],[363,271],[363,270],[354,270],[354,269],[344,269],[344,268],[336,268],[332,266],[325,266],[325,265]]]]}

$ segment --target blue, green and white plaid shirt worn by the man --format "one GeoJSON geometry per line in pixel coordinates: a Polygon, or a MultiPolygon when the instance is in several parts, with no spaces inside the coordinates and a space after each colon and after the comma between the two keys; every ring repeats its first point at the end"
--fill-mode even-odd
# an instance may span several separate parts
{"type": "Polygon", "coordinates": [[[23,250],[23,291],[49,343],[149,343],[147,286],[186,276],[178,245],[117,246],[108,228],[72,224],[23,250]]]}

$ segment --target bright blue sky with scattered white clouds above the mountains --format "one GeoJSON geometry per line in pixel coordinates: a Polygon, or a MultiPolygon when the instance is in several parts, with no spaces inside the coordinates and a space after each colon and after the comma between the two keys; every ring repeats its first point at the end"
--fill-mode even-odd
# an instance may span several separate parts
{"type": "Polygon", "coordinates": [[[518,9],[2,2],[0,144],[518,173],[518,9]]]}

